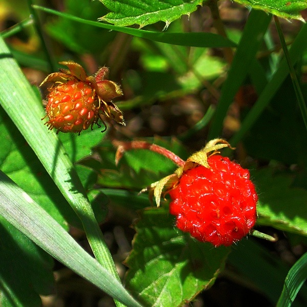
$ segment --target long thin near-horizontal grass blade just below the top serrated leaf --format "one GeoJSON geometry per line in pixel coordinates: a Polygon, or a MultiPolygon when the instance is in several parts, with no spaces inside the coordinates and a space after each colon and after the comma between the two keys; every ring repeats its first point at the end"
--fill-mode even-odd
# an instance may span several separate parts
{"type": "Polygon", "coordinates": [[[50,14],[54,14],[63,18],[77,21],[78,23],[91,25],[99,28],[104,28],[108,30],[114,30],[122,33],[127,33],[133,36],[142,37],[150,40],[171,43],[172,45],[180,46],[191,46],[191,47],[212,47],[212,48],[222,48],[222,47],[236,47],[236,44],[217,34],[204,33],[204,32],[191,32],[191,33],[161,33],[146,30],[139,30],[126,27],[117,27],[108,24],[98,23],[97,21],[86,20],[77,16],[73,16],[66,13],[61,13],[55,10],[51,10],[38,5],[33,5],[34,9],[41,10],[50,14]]]}

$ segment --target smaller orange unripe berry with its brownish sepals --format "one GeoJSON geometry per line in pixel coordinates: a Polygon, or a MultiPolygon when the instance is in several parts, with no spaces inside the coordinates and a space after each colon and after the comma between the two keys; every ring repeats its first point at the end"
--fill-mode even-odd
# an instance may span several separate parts
{"type": "Polygon", "coordinates": [[[122,92],[115,82],[105,80],[108,68],[100,68],[95,75],[87,76],[81,65],[73,61],[60,64],[67,65],[69,70],[60,69],[59,73],[50,74],[40,84],[54,83],[48,89],[46,106],[49,117],[46,124],[50,130],[56,128],[57,133],[80,134],[82,130],[98,125],[101,115],[124,124],[121,111],[111,102],[122,92]]]}

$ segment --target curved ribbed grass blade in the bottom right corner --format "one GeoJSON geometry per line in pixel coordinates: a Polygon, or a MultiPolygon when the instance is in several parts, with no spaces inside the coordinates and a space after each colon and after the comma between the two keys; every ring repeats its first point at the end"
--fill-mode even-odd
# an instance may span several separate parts
{"type": "Polygon", "coordinates": [[[290,269],[284,280],[277,307],[290,307],[307,277],[307,253],[303,254],[290,269]]]}

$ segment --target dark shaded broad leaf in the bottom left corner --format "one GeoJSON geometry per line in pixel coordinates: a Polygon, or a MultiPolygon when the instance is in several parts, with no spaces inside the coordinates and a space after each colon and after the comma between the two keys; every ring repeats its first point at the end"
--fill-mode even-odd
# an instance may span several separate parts
{"type": "Polygon", "coordinates": [[[0,216],[2,306],[41,306],[39,295],[54,292],[53,260],[0,216]]]}

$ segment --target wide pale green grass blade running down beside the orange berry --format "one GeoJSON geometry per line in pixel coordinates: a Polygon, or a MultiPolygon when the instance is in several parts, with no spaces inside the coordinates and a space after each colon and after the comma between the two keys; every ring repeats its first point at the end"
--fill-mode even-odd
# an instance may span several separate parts
{"type": "Polygon", "coordinates": [[[76,169],[55,133],[41,122],[42,103],[1,37],[0,71],[6,77],[0,82],[0,103],[80,218],[97,260],[119,279],[76,169]]]}

